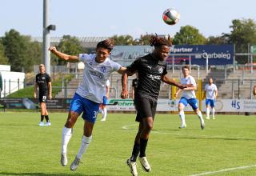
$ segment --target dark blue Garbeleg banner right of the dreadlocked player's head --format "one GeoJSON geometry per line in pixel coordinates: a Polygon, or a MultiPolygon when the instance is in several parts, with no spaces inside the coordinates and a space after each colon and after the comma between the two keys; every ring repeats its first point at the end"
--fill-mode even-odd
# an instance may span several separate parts
{"type": "Polygon", "coordinates": [[[175,45],[170,49],[167,63],[172,64],[174,60],[174,64],[189,64],[191,58],[191,64],[205,66],[208,57],[209,66],[227,65],[233,64],[233,56],[234,45],[175,45]]]}

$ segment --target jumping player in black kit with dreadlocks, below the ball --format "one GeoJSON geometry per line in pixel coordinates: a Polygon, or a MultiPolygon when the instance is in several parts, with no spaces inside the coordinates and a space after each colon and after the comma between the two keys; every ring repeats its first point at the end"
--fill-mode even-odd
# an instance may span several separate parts
{"type": "Polygon", "coordinates": [[[159,38],[157,35],[150,39],[150,46],[154,46],[154,51],[142,58],[135,60],[122,74],[122,98],[128,98],[127,78],[138,72],[138,88],[135,92],[134,102],[137,109],[136,121],[139,122],[138,133],[135,138],[134,148],[131,157],[127,160],[130,172],[138,175],[136,158],[139,154],[139,161],[146,172],[150,172],[150,164],[146,159],[146,145],[153,128],[154,114],[156,112],[160,84],[178,86],[180,89],[187,87],[174,82],[166,76],[165,58],[170,52],[171,39],[159,38]]]}

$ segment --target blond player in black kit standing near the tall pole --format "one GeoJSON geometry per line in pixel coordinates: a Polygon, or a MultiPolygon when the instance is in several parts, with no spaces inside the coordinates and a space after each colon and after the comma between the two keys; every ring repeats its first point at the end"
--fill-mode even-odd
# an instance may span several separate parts
{"type": "Polygon", "coordinates": [[[50,126],[50,120],[48,116],[48,111],[46,110],[46,100],[51,99],[51,82],[49,74],[46,74],[46,68],[43,64],[39,65],[40,73],[35,76],[34,82],[34,98],[38,99],[41,107],[41,120],[39,126],[50,126]],[[43,119],[46,118],[46,125],[43,123],[43,119]]]}

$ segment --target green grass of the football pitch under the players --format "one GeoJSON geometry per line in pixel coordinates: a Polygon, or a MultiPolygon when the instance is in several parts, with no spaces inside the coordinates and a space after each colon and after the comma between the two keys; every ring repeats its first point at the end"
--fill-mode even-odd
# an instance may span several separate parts
{"type": "MultiPolygon", "coordinates": [[[[66,113],[51,113],[52,126],[39,127],[39,113],[0,112],[0,175],[130,175],[130,156],[138,123],[134,114],[108,114],[94,126],[93,141],[75,172],[59,163],[66,113]],[[122,127],[126,126],[126,130],[122,127]]],[[[256,164],[256,116],[218,115],[201,130],[194,115],[186,115],[179,130],[178,115],[157,114],[146,150],[152,172],[139,175],[193,175],[256,164]]],[[[69,164],[82,137],[82,118],[68,147],[69,164]]],[[[210,175],[255,175],[256,167],[210,175]]]]}

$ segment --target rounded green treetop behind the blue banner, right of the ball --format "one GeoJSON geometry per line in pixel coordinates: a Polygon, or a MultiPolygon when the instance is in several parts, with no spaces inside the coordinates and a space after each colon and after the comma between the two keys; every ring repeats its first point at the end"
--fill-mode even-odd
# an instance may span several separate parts
{"type": "Polygon", "coordinates": [[[174,45],[203,45],[206,38],[193,26],[182,26],[178,33],[174,35],[174,45]]]}

